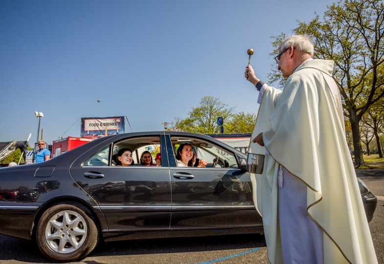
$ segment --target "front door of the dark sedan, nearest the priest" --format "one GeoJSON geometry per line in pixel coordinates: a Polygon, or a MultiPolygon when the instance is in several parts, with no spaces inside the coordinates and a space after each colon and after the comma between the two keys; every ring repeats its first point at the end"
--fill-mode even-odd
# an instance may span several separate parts
{"type": "Polygon", "coordinates": [[[230,150],[215,146],[205,139],[192,136],[166,137],[170,175],[172,185],[172,230],[241,228],[261,226],[262,220],[255,210],[249,173],[237,167],[236,158],[230,150]],[[177,167],[175,159],[175,142],[192,141],[196,144],[209,145],[209,153],[205,157],[208,165],[205,168],[177,167]],[[201,142],[201,143],[199,143],[201,142]],[[222,165],[211,167],[215,155],[220,155],[222,165]],[[225,163],[224,156],[231,157],[225,163]]]}

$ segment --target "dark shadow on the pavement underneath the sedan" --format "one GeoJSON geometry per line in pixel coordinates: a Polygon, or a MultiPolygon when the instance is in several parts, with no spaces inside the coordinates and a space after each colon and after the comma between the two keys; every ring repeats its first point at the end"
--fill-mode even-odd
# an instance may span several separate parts
{"type": "MultiPolygon", "coordinates": [[[[85,259],[77,263],[97,264],[93,257],[188,253],[266,247],[264,235],[244,234],[209,237],[163,238],[100,243],[85,259]],[[90,258],[90,259],[89,259],[90,258]]],[[[0,235],[0,263],[53,263],[46,259],[33,241],[0,235]]],[[[115,259],[116,257],[116,259],[115,259]]],[[[108,259],[107,259],[108,260],[108,259]]]]}

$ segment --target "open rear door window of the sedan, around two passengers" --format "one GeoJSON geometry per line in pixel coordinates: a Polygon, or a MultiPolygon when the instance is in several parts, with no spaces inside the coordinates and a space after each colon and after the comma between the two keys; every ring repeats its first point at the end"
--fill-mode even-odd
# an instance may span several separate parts
{"type": "Polygon", "coordinates": [[[127,138],[120,140],[113,144],[112,152],[112,165],[113,166],[123,166],[121,161],[118,160],[118,153],[120,150],[129,150],[132,151],[133,161],[131,166],[142,166],[140,164],[141,154],[144,152],[149,152],[152,157],[152,164],[156,165],[156,156],[160,153],[160,137],[159,136],[150,136],[150,137],[135,137],[127,138]]]}

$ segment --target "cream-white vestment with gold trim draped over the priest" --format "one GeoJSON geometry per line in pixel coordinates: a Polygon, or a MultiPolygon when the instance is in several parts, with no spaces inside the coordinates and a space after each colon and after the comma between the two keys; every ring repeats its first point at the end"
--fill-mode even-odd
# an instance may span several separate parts
{"type": "Polygon", "coordinates": [[[271,264],[283,263],[279,164],[307,186],[307,213],[323,231],[324,263],[377,263],[332,71],[333,61],[308,60],[294,70],[283,91],[268,87],[263,94],[249,152],[265,154],[252,142],[263,132],[269,154],[263,175],[251,174],[251,179],[271,264]]]}

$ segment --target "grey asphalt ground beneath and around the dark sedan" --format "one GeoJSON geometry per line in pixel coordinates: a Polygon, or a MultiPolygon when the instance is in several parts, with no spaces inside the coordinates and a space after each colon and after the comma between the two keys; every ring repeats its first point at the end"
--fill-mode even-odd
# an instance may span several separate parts
{"type": "MultiPolygon", "coordinates": [[[[384,170],[358,170],[357,175],[378,197],[369,223],[376,254],[384,264],[384,170]]],[[[51,263],[31,241],[0,235],[0,264],[51,263]]],[[[82,264],[267,264],[263,235],[244,234],[110,242],[99,245],[82,264]]]]}

